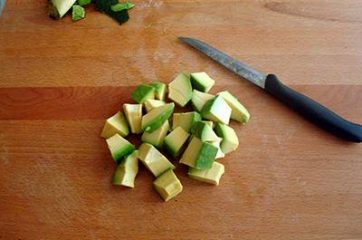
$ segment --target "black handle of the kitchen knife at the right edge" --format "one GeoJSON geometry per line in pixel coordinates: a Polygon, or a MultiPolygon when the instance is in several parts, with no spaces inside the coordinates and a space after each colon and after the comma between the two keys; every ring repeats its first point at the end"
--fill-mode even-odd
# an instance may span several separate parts
{"type": "Polygon", "coordinates": [[[348,141],[362,141],[361,125],[338,116],[309,97],[285,86],[274,74],[267,76],[265,90],[330,133],[348,141]]]}

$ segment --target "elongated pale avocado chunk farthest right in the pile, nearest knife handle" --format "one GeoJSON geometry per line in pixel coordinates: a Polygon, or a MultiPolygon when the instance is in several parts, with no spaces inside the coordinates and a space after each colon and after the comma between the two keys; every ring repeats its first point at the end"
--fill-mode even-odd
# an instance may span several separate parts
{"type": "Polygon", "coordinates": [[[247,123],[249,121],[250,113],[236,97],[228,91],[219,92],[218,95],[231,107],[231,119],[241,123],[247,123]]]}

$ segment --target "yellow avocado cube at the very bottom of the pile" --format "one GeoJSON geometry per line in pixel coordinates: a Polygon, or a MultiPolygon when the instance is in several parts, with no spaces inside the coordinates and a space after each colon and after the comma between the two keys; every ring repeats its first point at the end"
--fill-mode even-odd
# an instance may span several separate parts
{"type": "Polygon", "coordinates": [[[182,192],[182,184],[172,169],[159,176],[153,185],[166,202],[182,192]]]}

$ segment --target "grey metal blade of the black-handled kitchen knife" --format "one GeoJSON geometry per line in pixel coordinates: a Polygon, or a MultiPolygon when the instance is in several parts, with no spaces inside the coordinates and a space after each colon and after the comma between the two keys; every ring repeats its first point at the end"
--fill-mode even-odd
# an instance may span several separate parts
{"type": "Polygon", "coordinates": [[[266,79],[265,74],[258,72],[257,70],[245,65],[244,63],[197,39],[188,37],[179,37],[178,39],[203,52],[204,54],[214,59],[216,62],[220,63],[237,75],[249,80],[250,82],[256,84],[261,88],[264,88],[266,79]]]}

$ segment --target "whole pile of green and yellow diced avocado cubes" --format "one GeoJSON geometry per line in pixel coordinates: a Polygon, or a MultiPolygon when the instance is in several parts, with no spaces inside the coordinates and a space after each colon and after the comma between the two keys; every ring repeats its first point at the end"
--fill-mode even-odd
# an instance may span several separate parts
{"type": "Polygon", "coordinates": [[[225,170],[215,159],[239,145],[229,121],[245,124],[250,114],[228,91],[208,93],[214,84],[205,72],[197,72],[178,74],[168,88],[162,82],[138,86],[132,93],[137,104],[123,104],[123,111],[108,118],[101,133],[118,165],[112,184],[133,188],[140,160],[155,176],[153,185],[161,197],[172,199],[183,187],[166,153],[189,166],[189,177],[219,185],[225,170]],[[171,102],[165,101],[167,92],[171,102]],[[175,103],[180,107],[191,103],[194,111],[173,113],[175,103]],[[125,139],[130,132],[142,134],[138,150],[125,139]]]}

